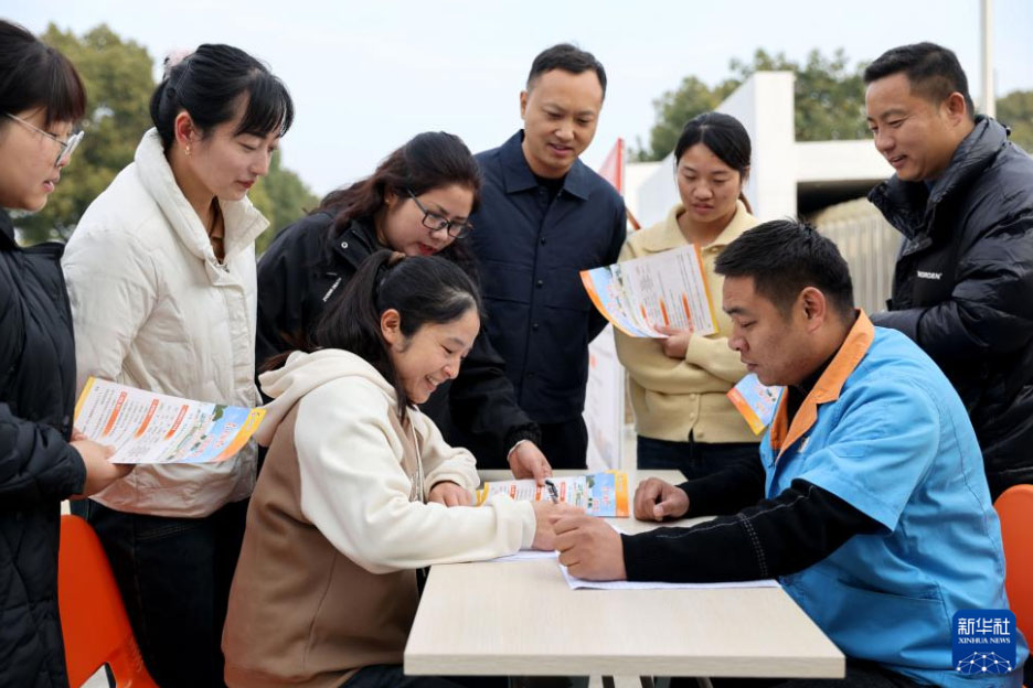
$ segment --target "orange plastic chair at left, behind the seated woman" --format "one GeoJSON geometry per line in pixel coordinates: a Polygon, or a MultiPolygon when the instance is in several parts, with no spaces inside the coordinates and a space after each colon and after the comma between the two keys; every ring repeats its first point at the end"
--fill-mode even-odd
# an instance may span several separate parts
{"type": "Polygon", "coordinates": [[[106,664],[118,688],[158,688],[143,666],[100,540],[78,516],[61,517],[57,603],[72,686],[82,686],[106,664]]]}

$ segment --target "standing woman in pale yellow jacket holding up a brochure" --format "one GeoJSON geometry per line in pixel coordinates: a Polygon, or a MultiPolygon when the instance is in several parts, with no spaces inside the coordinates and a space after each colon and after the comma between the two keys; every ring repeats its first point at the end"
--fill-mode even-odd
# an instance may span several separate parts
{"type": "MultiPolygon", "coordinates": [[[[663,222],[629,237],[620,260],[696,244],[710,292],[720,299],[714,261],[757,224],[743,195],[749,149],[746,129],[728,115],[705,112],[685,125],[674,148],[681,203],[663,222]]],[[[630,378],[640,469],[678,469],[694,479],[757,460],[758,438],[725,396],[746,368],[728,348],[732,322],[715,305],[718,331],[709,336],[670,330],[667,340],[648,340],[616,332],[630,378]]]]}

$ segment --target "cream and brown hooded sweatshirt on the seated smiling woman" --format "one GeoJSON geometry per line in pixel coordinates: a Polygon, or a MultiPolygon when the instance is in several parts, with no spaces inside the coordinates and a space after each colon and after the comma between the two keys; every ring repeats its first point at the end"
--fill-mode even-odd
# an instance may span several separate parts
{"type": "Polygon", "coordinates": [[[478,484],[473,456],[340,350],[295,353],[260,378],[269,445],[247,513],[223,632],[230,686],[340,686],[401,664],[415,570],[530,547],[529,503],[446,508],[436,483],[478,484]]]}

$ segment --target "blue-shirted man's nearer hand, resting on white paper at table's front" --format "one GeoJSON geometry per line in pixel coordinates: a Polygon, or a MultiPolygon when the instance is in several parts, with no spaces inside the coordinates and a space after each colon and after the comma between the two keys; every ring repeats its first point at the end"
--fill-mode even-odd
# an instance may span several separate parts
{"type": "Polygon", "coordinates": [[[620,534],[601,518],[563,516],[554,525],[560,563],[585,580],[626,580],[620,534]]]}

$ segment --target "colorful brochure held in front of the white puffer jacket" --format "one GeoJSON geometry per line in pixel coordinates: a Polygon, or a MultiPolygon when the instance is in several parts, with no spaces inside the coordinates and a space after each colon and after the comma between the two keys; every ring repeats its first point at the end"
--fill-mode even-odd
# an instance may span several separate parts
{"type": "Polygon", "coordinates": [[[209,463],[236,454],[265,409],[191,401],[90,377],[75,428],[115,448],[111,463],[209,463]]]}

